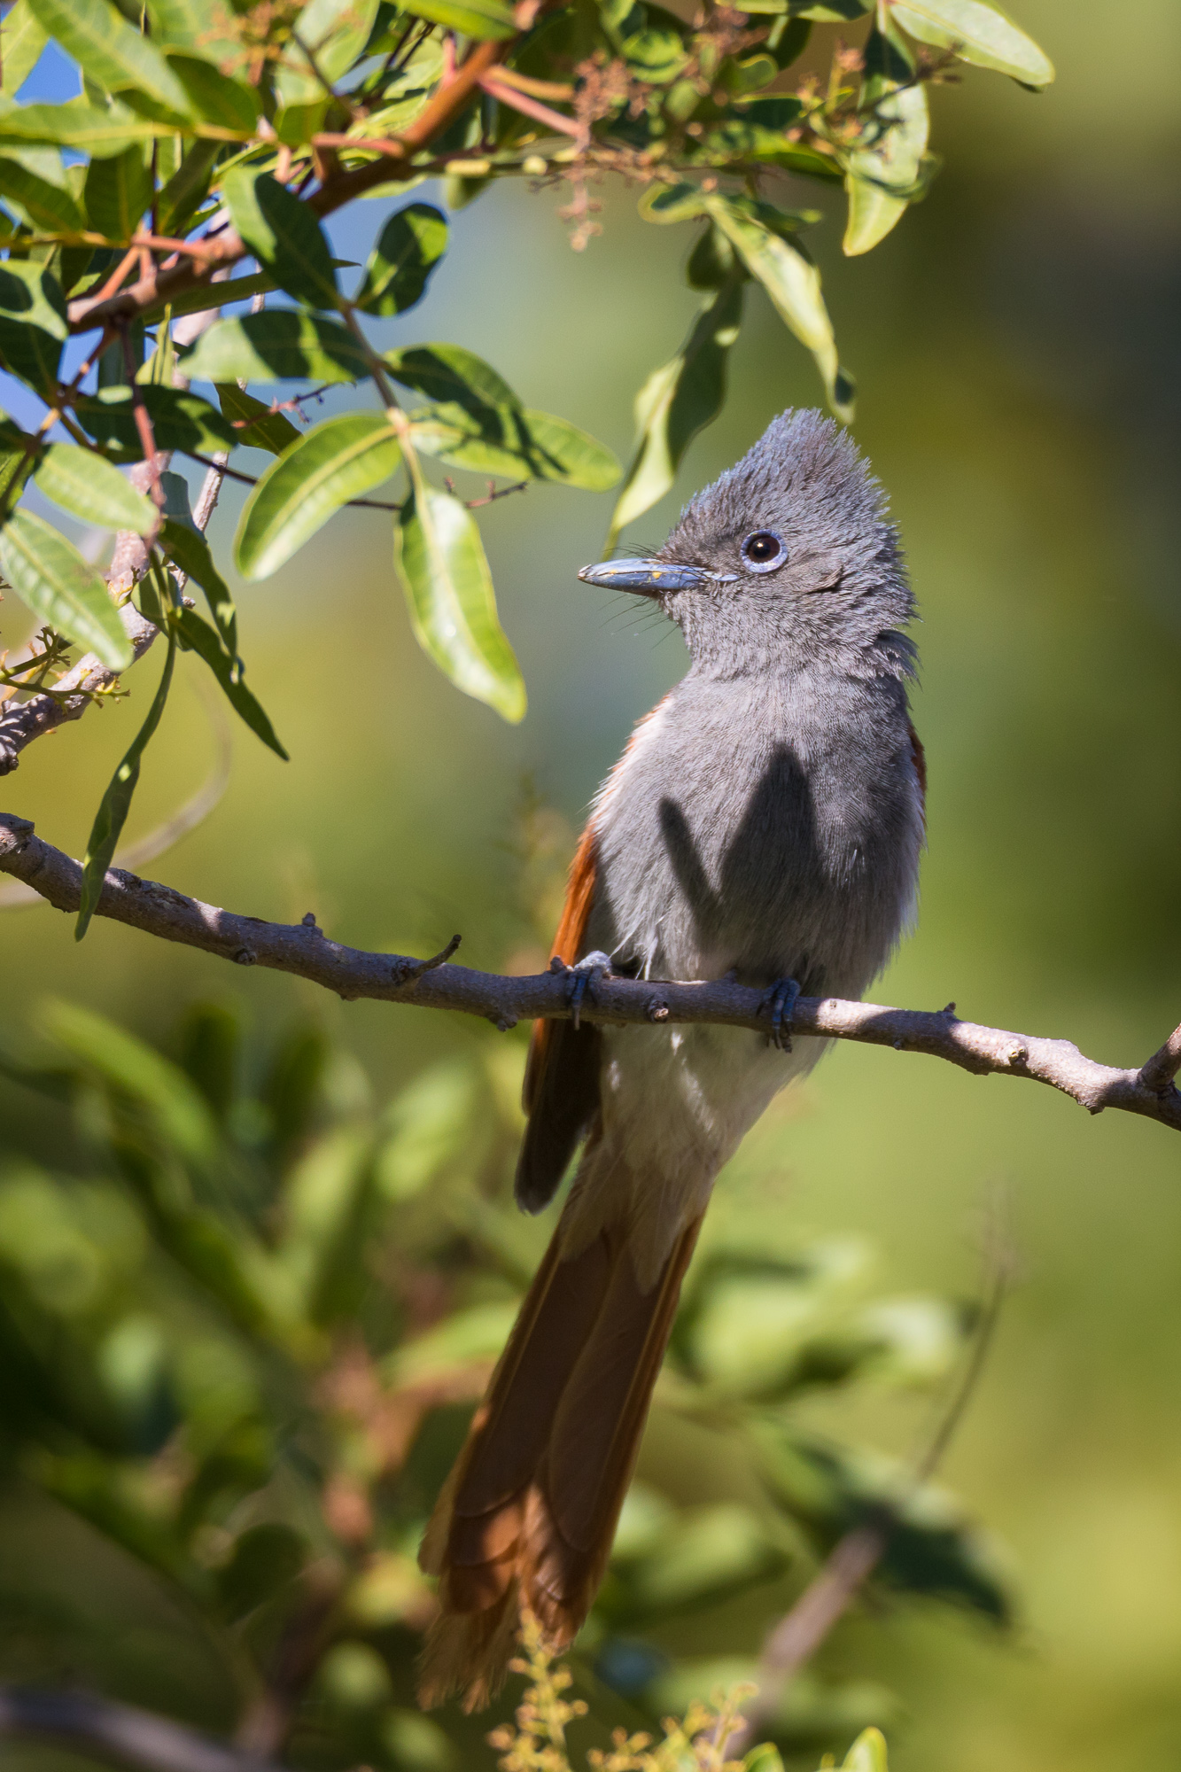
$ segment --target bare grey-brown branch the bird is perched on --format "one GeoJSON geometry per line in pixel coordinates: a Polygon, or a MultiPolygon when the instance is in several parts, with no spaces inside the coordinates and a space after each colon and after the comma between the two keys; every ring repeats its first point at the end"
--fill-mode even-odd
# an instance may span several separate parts
{"type": "MultiPolygon", "coordinates": [[[[82,867],[43,842],[27,819],[0,813],[0,874],[25,881],[59,911],[76,911],[82,867]]],[[[438,964],[397,953],[367,953],[328,941],[309,913],[303,923],[268,923],[202,904],[184,893],[110,868],[98,916],[142,929],[161,941],[179,941],[238,966],[266,966],[335,991],[346,1001],[371,998],[420,1008],[452,1008],[484,1015],[500,1030],[518,1021],[569,1019],[562,973],[505,978],[466,966],[438,964]]],[[[764,994],[729,978],[665,983],[645,978],[596,978],[582,1015],[615,1026],[693,1024],[766,1031],[764,994]]],[[[1046,1040],[1004,1028],[959,1021],[945,1010],[885,1008],[841,998],[800,998],[793,1033],[821,1040],[890,1045],[899,1053],[926,1053],[975,1076],[1028,1077],[1069,1095],[1089,1113],[1119,1108],[1181,1132],[1181,1092],[1172,1081],[1156,1084],[1154,1060],[1142,1070],[1121,1070],[1085,1058],[1071,1040],[1046,1040]],[[1149,1081],[1146,1081],[1146,1072],[1149,1081]]],[[[1181,1030],[1169,1051],[1181,1053],[1181,1030]]]]}

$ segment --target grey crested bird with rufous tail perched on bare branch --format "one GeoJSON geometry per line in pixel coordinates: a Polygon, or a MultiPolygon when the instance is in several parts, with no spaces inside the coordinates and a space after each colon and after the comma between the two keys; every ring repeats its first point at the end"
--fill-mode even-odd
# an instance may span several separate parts
{"type": "Polygon", "coordinates": [[[440,1611],[424,1706],[484,1706],[523,1609],[567,1648],[610,1556],[718,1171],[825,1042],[796,996],[860,998],[913,923],[926,762],[915,615],[885,493],[846,431],[778,415],[651,556],[578,574],[679,626],[684,677],[599,789],[553,941],[571,1017],[536,1022],[516,1200],[582,1146],[420,1547],[440,1611]],[[768,1031],[596,1026],[603,975],[759,987],[768,1031]]]}

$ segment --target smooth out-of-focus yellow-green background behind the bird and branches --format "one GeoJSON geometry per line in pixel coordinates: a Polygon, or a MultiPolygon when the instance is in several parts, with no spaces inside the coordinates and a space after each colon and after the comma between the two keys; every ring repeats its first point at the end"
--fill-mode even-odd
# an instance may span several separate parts
{"type": "MultiPolygon", "coordinates": [[[[954,998],[965,1017],[1133,1063],[1181,1015],[1181,14],[1169,0],[1135,12],[1023,0],[1020,21],[1057,85],[1034,97],[968,71],[935,94],[947,167],[897,232],[849,262],[839,202],[816,230],[860,383],[855,434],[890,493],[922,610],[929,854],[917,934],[874,994],[931,1008],[954,998]]],[[[470,346],[528,404],[626,457],[633,392],[679,344],[693,296],[676,278],[686,237],[638,222],[626,191],[599,195],[603,237],[575,255],[551,193],[493,188],[454,218],[427,303],[387,331],[388,344],[470,346]]],[[[385,207],[362,204],[337,229],[344,257],[364,257],[385,207]]],[[[817,402],[803,351],[761,292],[748,299],[725,415],[633,540],[658,542],[677,500],[773,413],[817,402]]],[[[238,509],[231,487],[213,526],[222,542],[238,509]]],[[[536,790],[573,833],[631,721],[684,664],[676,633],[575,579],[608,510],[610,496],[530,487],[482,512],[530,693],[516,730],[413,645],[381,516],[337,517],[275,579],[241,587],[243,652],[291,764],[234,734],[223,803],[149,872],[259,916],[314,909],[330,936],[365,948],[433,952],[461,930],[470,964],[532,966],[521,804],[536,790]]],[[[0,610],[5,645],[21,620],[0,610]]],[[[129,702],[32,746],[4,785],[4,808],[73,854],[144,707],[140,675],[131,682],[129,702]]],[[[167,721],[133,838],[209,767],[197,695],[174,696],[167,721]]],[[[78,948],[71,920],[48,909],[0,916],[0,978],[9,1049],[44,996],[165,1042],[184,1005],[220,996],[245,1006],[259,1044],[316,1014],[379,1099],[454,1051],[500,1040],[505,1067],[523,1056],[518,1035],[323,1001],[103,921],[78,948]]],[[[16,1084],[0,1083],[0,1125],[5,1155],[64,1150],[64,1123],[16,1084]]],[[[1007,1193],[1021,1283],[943,1476],[1009,1547],[1018,1625],[1002,1637],[911,1604],[888,1630],[842,1627],[826,1650],[833,1675],[901,1696],[901,1772],[1177,1763],[1174,1145],[1131,1116],[1089,1120],[1048,1090],[846,1045],[720,1182],[727,1223],[773,1214],[784,1235],[871,1239],[892,1292],[972,1292],[981,1203],[1007,1193]]],[[[922,1419],[832,1400],[814,1416],[897,1449],[922,1419]]],[[[20,1533],[0,1522],[5,1538],[20,1533]]],[[[734,1641],[709,1652],[754,1646],[770,1618],[770,1602],[752,1600],[731,1618],[734,1641]]]]}

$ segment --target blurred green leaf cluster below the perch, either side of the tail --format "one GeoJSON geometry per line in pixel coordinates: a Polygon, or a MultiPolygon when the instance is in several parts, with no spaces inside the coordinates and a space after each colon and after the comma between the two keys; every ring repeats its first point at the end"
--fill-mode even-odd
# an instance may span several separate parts
{"type": "MultiPolygon", "coordinates": [[[[489,1035],[374,1102],[314,1024],[259,1053],[236,1014],[195,1008],[165,1056],[59,1003],[41,1037],[4,1070],[67,1108],[76,1148],[0,1170],[2,1460],[183,1602],[239,1708],[314,1614],[296,1747],[328,1729],[340,1763],[403,1765],[433,1616],[418,1535],[544,1237],[511,1205],[518,1058],[489,1035]]],[[[949,1497],[800,1421],[817,1393],[931,1389],[961,1357],[963,1310],[867,1302],[865,1274],[830,1240],[777,1260],[715,1242],[692,1276],[653,1434],[692,1426],[732,1496],[633,1487],[580,1664],[653,1719],[677,1676],[729,1682],[670,1666],[667,1620],[766,1607],[871,1517],[887,1586],[1007,1616],[949,1497]]],[[[796,1692],[771,1729],[851,1735],[876,1721],[858,1703],[796,1692]]]]}

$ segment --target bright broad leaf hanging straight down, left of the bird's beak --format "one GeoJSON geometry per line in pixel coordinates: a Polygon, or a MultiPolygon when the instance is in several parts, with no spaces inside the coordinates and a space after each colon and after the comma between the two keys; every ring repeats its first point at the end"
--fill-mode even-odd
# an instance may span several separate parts
{"type": "Polygon", "coordinates": [[[458,498],[417,477],[394,528],[418,645],[458,689],[507,721],[525,718],[525,684],[500,627],[481,532],[458,498]]]}

